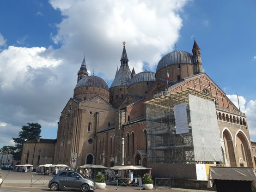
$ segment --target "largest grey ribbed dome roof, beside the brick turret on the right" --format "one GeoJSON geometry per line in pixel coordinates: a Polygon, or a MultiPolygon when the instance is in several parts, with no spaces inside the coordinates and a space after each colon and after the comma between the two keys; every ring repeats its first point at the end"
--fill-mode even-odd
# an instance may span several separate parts
{"type": "Polygon", "coordinates": [[[193,55],[186,51],[170,52],[162,57],[162,59],[158,62],[157,72],[166,66],[182,63],[193,64],[193,55]]]}

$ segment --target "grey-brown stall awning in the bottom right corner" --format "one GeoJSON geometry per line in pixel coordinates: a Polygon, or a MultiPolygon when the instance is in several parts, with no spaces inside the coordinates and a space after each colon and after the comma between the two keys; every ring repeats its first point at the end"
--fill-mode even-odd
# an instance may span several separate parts
{"type": "Polygon", "coordinates": [[[256,181],[253,168],[247,167],[210,167],[209,180],[249,180],[256,181]]]}

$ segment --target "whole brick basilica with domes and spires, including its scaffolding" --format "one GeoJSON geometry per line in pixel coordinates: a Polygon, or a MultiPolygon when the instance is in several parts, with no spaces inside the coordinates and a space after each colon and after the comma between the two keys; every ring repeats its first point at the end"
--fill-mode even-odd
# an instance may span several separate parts
{"type": "Polygon", "coordinates": [[[183,179],[200,179],[207,165],[256,167],[246,116],[203,72],[197,42],[163,56],[156,72],[131,71],[125,42],[120,62],[109,87],[84,57],[57,138],[25,142],[21,164],[124,163],[183,179]]]}

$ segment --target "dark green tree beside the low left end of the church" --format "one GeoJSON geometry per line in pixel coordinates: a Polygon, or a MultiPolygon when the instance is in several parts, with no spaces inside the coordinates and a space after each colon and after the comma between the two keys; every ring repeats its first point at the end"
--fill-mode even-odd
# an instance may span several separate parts
{"type": "Polygon", "coordinates": [[[37,137],[41,137],[39,134],[41,133],[41,125],[38,123],[27,123],[28,126],[22,126],[22,131],[19,132],[18,138],[12,138],[15,142],[13,153],[14,160],[19,161],[22,155],[23,144],[25,141],[35,139],[37,137]]]}

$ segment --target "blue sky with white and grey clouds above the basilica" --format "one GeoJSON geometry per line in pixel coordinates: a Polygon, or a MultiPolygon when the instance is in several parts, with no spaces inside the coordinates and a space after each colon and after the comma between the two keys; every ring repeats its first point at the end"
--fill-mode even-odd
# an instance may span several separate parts
{"type": "Polygon", "coordinates": [[[255,0],[0,0],[0,148],[28,122],[55,139],[83,58],[110,87],[123,41],[139,73],[175,49],[192,54],[196,40],[203,71],[256,141],[255,10],[255,0]]]}

